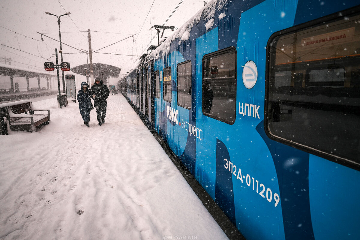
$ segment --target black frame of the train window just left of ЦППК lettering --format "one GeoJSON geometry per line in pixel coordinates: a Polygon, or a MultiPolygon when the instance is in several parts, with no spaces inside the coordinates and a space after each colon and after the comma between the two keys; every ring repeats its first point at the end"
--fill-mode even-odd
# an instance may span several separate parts
{"type": "MultiPolygon", "coordinates": [[[[207,77],[207,78],[204,78],[204,62],[205,62],[205,59],[207,58],[211,58],[211,57],[214,57],[214,56],[219,56],[219,55],[222,55],[222,54],[225,54],[225,53],[229,53],[230,51],[233,51],[234,54],[235,54],[235,74],[234,74],[234,77],[220,77],[219,79],[221,80],[229,80],[230,78],[234,78],[234,88],[235,88],[235,105],[234,105],[234,119],[233,121],[228,121],[224,118],[220,118],[220,117],[217,117],[217,116],[214,116],[214,115],[211,115],[210,113],[206,113],[204,112],[204,108],[203,108],[203,94],[201,94],[201,111],[202,113],[207,116],[207,117],[210,117],[210,118],[213,118],[217,121],[220,121],[220,122],[224,122],[224,123],[227,123],[227,124],[230,124],[230,125],[233,125],[235,123],[235,120],[236,120],[236,116],[237,116],[237,112],[236,112],[236,104],[237,104],[237,50],[236,50],[236,47],[234,46],[230,46],[230,47],[226,47],[224,49],[220,49],[220,50],[217,50],[215,52],[212,52],[212,53],[208,53],[208,54],[205,54],[202,58],[202,62],[201,62],[201,89],[203,88],[203,83],[204,83],[204,80],[205,81],[211,81],[212,79],[215,79],[216,77],[207,77]]],[[[201,90],[203,91],[203,90],[201,90]]]]}

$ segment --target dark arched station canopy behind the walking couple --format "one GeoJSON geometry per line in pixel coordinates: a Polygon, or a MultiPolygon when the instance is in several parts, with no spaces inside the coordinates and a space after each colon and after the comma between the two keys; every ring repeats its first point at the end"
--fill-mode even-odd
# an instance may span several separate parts
{"type": "MultiPolygon", "coordinates": [[[[83,64],[76,67],[72,67],[71,71],[73,73],[80,74],[82,76],[90,77],[90,64],[83,64]]],[[[103,63],[93,63],[93,72],[94,77],[99,76],[103,80],[104,84],[107,85],[107,80],[109,78],[118,78],[120,75],[121,68],[103,64],[103,63]]]]}

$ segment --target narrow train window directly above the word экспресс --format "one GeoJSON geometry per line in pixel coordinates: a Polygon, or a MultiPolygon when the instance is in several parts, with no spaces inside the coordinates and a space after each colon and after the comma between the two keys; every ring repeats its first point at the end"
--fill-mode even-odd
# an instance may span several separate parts
{"type": "Polygon", "coordinates": [[[177,104],[191,108],[191,62],[177,64],[177,104]]]}

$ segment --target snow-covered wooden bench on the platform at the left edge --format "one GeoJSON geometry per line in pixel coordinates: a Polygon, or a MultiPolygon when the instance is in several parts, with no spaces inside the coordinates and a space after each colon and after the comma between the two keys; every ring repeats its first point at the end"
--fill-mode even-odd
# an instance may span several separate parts
{"type": "Polygon", "coordinates": [[[50,122],[50,110],[37,109],[30,100],[20,100],[0,104],[0,117],[6,117],[12,131],[32,132],[35,127],[50,122]],[[48,111],[48,114],[35,114],[35,111],[48,111]]]}

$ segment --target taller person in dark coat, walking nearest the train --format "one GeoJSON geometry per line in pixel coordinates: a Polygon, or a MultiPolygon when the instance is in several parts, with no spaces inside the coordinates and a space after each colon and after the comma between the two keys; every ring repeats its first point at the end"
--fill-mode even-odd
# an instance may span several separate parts
{"type": "Polygon", "coordinates": [[[95,84],[91,87],[91,94],[93,94],[96,117],[99,122],[98,126],[101,126],[105,123],[106,107],[108,106],[106,99],[110,91],[103,81],[99,77],[96,77],[95,84]]]}

